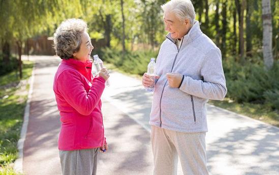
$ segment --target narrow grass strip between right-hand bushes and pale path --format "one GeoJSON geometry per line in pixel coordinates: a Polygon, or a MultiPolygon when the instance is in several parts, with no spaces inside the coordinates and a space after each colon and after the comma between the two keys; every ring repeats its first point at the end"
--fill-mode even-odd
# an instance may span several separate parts
{"type": "Polygon", "coordinates": [[[240,104],[233,102],[228,98],[225,98],[224,101],[210,100],[209,104],[279,127],[279,111],[271,110],[269,107],[262,104],[240,104]]]}

